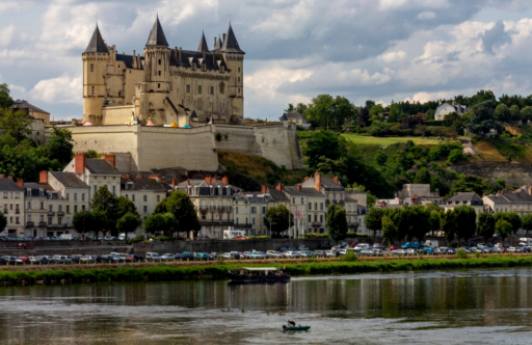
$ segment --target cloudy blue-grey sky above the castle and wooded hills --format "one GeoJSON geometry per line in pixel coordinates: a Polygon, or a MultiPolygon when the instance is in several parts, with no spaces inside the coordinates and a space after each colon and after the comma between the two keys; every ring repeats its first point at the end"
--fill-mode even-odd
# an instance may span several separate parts
{"type": "Polygon", "coordinates": [[[319,93],[427,100],[532,93],[530,0],[0,0],[0,82],[55,119],[81,114],[81,52],[98,23],[142,51],[155,14],[193,49],[232,22],[246,51],[245,116],[319,93]]]}

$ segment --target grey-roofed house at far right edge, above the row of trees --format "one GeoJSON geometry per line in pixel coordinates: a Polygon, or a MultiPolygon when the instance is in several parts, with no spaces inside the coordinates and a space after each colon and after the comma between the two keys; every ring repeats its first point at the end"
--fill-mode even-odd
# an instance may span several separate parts
{"type": "Polygon", "coordinates": [[[486,210],[491,212],[516,212],[521,215],[532,213],[532,186],[485,195],[482,201],[486,210]]]}

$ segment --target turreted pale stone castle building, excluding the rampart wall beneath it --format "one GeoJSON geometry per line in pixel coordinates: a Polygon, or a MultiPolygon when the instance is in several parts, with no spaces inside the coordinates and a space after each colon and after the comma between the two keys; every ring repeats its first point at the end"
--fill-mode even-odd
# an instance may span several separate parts
{"type": "Polygon", "coordinates": [[[238,123],[244,113],[244,54],[230,24],[212,50],[202,33],[192,51],[170,48],[157,17],[143,55],[117,53],[96,27],[82,54],[84,122],[182,128],[191,121],[238,123]]]}

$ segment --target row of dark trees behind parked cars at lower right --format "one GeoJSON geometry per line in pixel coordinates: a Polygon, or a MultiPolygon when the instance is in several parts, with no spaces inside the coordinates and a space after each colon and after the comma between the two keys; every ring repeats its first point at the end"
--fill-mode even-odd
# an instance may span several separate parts
{"type": "Polygon", "coordinates": [[[371,208],[365,222],[374,235],[381,230],[383,238],[390,243],[422,241],[433,231],[443,231],[449,242],[462,242],[475,237],[489,240],[495,234],[504,240],[521,228],[532,230],[532,215],[520,217],[513,212],[477,215],[470,206],[458,206],[446,212],[435,205],[371,208]]]}

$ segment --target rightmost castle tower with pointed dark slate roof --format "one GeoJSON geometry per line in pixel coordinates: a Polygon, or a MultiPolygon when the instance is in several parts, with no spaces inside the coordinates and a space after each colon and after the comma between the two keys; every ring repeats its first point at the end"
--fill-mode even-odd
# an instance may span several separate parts
{"type": "Polygon", "coordinates": [[[231,98],[232,121],[244,117],[244,51],[240,49],[231,24],[224,35],[220,52],[230,70],[228,93],[231,98]]]}

